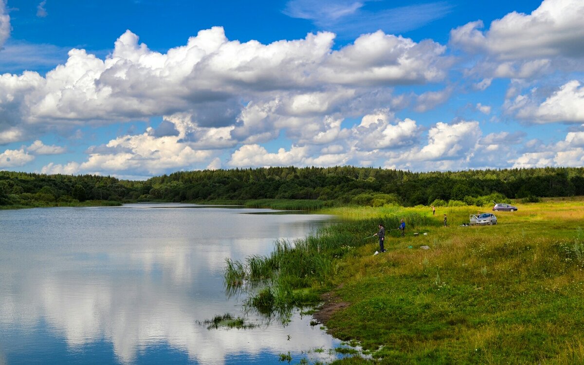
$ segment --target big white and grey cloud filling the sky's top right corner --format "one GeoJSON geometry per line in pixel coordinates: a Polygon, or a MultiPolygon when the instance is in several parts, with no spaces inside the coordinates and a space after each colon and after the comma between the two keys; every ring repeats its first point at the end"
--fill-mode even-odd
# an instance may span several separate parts
{"type": "MultiPolygon", "coordinates": [[[[450,32],[450,45],[473,57],[475,78],[541,80],[554,72],[584,71],[584,2],[544,0],[530,14],[511,12],[483,30],[481,20],[450,32]]],[[[481,83],[475,89],[482,89],[481,83]]]]}

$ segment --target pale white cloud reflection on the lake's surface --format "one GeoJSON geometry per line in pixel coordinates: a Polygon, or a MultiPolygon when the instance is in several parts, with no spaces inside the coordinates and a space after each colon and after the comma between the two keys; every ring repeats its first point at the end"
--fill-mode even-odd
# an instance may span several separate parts
{"type": "MultiPolygon", "coordinates": [[[[242,315],[242,298],[225,296],[225,258],[267,254],[274,238],[302,237],[324,217],[256,215],[257,220],[250,222],[243,217],[252,215],[236,214],[225,227],[224,220],[213,212],[205,213],[208,216],[196,224],[185,225],[200,217],[189,213],[185,220],[183,209],[174,210],[171,216],[157,213],[148,217],[151,211],[138,219],[131,217],[135,211],[110,210],[107,214],[113,214],[112,220],[95,223],[95,215],[106,211],[81,210],[69,217],[77,218],[79,231],[64,236],[75,237],[85,231],[85,239],[64,242],[58,239],[62,235],[48,230],[36,245],[28,242],[24,249],[18,242],[6,245],[10,249],[0,259],[0,272],[6,273],[0,282],[0,332],[16,328],[34,331],[46,322],[70,350],[82,352],[84,346],[103,338],[112,343],[123,363],[132,363],[138,352],[160,343],[205,364],[221,364],[228,356],[241,353],[300,353],[314,347],[330,349],[338,343],[311,328],[310,318],[298,314],[286,327],[267,325],[255,315],[249,320],[261,324],[256,329],[208,330],[198,324],[227,312],[242,315]],[[164,228],[152,225],[161,219],[166,219],[164,228]],[[99,234],[92,233],[95,224],[101,225],[99,234]],[[139,239],[119,232],[128,227],[142,232],[137,234],[139,239]],[[215,235],[217,231],[220,234],[215,235]],[[114,239],[116,236],[121,239],[114,239]]],[[[63,219],[51,218],[51,214],[62,213],[71,211],[52,211],[44,218],[63,219]]],[[[43,227],[51,227],[50,222],[43,222],[43,227]]],[[[31,238],[25,236],[23,239],[31,238]]]]}

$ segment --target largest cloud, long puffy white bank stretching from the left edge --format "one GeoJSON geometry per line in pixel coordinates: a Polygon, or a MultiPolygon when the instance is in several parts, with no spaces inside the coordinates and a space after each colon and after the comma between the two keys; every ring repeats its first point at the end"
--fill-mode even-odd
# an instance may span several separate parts
{"type": "Polygon", "coordinates": [[[277,137],[277,123],[324,120],[357,98],[378,102],[387,86],[440,81],[451,64],[431,40],[379,31],[333,50],[334,39],[320,32],[241,43],[213,27],[159,53],[128,30],[104,60],[73,49],[44,77],[0,75],[0,133],[18,128],[36,139],[50,128],[186,113],[199,128],[231,127],[233,140],[253,144],[277,137]]]}

